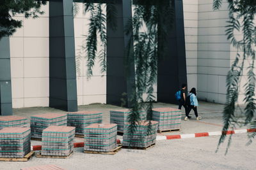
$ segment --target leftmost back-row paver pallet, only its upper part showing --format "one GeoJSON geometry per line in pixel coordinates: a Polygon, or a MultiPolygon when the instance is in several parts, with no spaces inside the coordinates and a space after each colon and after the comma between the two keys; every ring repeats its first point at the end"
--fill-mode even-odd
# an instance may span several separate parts
{"type": "Polygon", "coordinates": [[[4,127],[29,127],[29,120],[26,117],[3,116],[0,117],[0,129],[4,127]]]}

